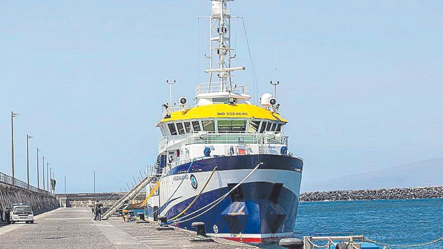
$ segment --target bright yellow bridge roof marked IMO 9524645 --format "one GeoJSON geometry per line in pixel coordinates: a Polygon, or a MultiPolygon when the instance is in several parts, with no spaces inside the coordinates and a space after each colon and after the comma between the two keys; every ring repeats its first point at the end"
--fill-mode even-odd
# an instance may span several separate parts
{"type": "Polygon", "coordinates": [[[171,112],[171,118],[164,118],[160,123],[188,119],[252,117],[287,123],[287,120],[281,118],[278,113],[273,113],[264,108],[249,104],[213,104],[198,106],[185,111],[171,112]]]}

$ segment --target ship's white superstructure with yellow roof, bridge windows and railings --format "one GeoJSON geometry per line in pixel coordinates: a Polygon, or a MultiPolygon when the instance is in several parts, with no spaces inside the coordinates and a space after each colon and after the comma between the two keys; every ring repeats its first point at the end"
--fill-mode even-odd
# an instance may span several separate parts
{"type": "Polygon", "coordinates": [[[171,169],[192,158],[286,153],[286,123],[275,110],[247,103],[182,107],[157,124],[158,164],[171,169]]]}

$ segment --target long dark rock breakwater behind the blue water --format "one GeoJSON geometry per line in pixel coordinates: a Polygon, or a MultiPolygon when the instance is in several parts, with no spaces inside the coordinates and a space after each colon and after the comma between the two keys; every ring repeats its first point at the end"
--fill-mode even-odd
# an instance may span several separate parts
{"type": "Polygon", "coordinates": [[[368,190],[335,190],[325,192],[308,192],[300,195],[300,201],[302,202],[399,200],[422,198],[443,198],[443,186],[368,190]]]}

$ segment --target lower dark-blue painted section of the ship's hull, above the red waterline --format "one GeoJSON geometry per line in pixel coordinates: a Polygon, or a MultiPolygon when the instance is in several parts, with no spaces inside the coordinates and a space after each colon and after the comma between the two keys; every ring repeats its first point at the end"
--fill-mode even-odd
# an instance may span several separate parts
{"type": "MultiPolygon", "coordinates": [[[[177,226],[192,229],[192,222],[198,221],[206,224],[206,231],[209,233],[214,232],[214,225],[217,226],[218,233],[262,234],[292,232],[299,201],[292,191],[284,187],[281,188],[279,197],[274,201],[270,201],[274,186],[273,183],[267,182],[242,184],[240,187],[244,199],[236,199],[237,197],[233,195],[228,196],[210,211],[190,221],[179,223],[177,226]],[[232,204],[244,207],[237,214],[227,215],[229,214],[227,211],[235,210],[235,207],[230,209],[232,204]]],[[[202,194],[182,216],[204,207],[229,192],[229,190],[228,187],[225,187],[202,194]]],[[[193,199],[189,198],[175,205],[168,211],[166,216],[168,218],[174,217],[186,208],[193,199]]],[[[201,212],[190,217],[199,213],[201,212]]]]}

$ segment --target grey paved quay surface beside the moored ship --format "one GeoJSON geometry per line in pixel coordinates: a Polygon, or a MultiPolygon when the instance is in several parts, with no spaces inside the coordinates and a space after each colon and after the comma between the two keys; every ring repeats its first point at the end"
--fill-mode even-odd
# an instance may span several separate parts
{"type": "Polygon", "coordinates": [[[196,232],[158,231],[155,223],[94,221],[91,209],[58,208],[35,217],[35,224],[0,227],[0,248],[254,248],[235,241],[191,242],[196,232]],[[229,243],[229,244],[225,244],[229,243]]]}

